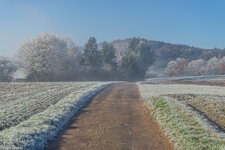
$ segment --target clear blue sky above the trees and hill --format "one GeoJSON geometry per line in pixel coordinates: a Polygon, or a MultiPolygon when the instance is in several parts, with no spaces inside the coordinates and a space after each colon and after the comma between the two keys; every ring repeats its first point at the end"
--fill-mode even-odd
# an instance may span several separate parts
{"type": "Polygon", "coordinates": [[[0,56],[40,32],[83,45],[145,37],[202,48],[225,48],[224,0],[1,0],[0,56]]]}

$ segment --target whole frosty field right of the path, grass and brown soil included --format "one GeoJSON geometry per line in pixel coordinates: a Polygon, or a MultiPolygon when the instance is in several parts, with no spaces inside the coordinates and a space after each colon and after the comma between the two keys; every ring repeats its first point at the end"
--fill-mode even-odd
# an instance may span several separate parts
{"type": "Polygon", "coordinates": [[[138,86],[146,106],[177,149],[225,149],[225,87],[144,83],[138,86]]]}

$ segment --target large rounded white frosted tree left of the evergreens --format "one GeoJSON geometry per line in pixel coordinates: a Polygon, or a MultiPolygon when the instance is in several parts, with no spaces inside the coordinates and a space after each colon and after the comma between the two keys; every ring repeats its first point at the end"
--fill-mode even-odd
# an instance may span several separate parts
{"type": "Polygon", "coordinates": [[[63,80],[68,69],[77,64],[71,62],[77,51],[68,37],[41,33],[19,46],[17,59],[32,81],[63,80]]]}

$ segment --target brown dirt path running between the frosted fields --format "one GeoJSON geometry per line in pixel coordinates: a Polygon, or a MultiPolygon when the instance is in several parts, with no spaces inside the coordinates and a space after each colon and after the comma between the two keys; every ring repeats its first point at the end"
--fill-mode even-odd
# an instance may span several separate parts
{"type": "Polygon", "coordinates": [[[173,146],[147,115],[134,83],[97,94],[48,150],[170,150],[173,146]]]}

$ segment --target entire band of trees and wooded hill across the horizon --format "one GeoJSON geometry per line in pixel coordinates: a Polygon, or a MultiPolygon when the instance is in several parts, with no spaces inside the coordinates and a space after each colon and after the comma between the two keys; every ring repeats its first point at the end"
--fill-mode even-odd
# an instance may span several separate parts
{"type": "Polygon", "coordinates": [[[225,74],[225,50],[201,49],[144,38],[82,47],[69,37],[41,33],[19,45],[13,59],[0,57],[0,81],[143,80],[149,77],[225,74]],[[212,65],[213,64],[213,65],[212,65]]]}

